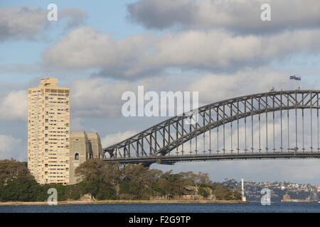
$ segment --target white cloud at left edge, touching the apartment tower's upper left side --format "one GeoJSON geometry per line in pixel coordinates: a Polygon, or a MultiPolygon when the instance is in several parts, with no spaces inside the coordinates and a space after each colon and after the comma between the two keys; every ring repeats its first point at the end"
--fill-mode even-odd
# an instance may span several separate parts
{"type": "Polygon", "coordinates": [[[12,91],[0,99],[0,119],[5,121],[26,121],[28,116],[28,94],[26,91],[12,91]]]}

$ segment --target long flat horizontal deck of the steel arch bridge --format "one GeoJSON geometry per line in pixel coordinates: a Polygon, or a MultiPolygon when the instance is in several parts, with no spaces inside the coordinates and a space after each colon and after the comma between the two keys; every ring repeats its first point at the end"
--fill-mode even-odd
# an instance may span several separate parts
{"type": "Polygon", "coordinates": [[[255,152],[255,153],[222,153],[198,155],[163,155],[148,157],[105,158],[105,162],[119,162],[120,164],[142,164],[150,166],[153,163],[174,165],[176,162],[208,161],[208,160],[261,160],[261,159],[304,159],[320,158],[320,152],[255,152]]]}

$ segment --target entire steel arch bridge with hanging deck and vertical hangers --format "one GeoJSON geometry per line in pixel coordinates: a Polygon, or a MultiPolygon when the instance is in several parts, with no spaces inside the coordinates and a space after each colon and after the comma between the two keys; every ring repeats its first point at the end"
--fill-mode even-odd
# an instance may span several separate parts
{"type": "Polygon", "coordinates": [[[149,166],[319,158],[319,93],[271,91],[208,104],[104,148],[103,160],[149,166]]]}

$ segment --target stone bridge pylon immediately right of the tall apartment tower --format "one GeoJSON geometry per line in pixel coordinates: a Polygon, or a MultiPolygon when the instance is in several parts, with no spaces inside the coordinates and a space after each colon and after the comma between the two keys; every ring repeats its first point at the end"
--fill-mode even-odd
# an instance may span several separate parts
{"type": "Polygon", "coordinates": [[[70,135],[70,184],[80,182],[81,179],[75,177],[75,169],[92,158],[102,158],[98,133],[73,132],[70,135]]]}

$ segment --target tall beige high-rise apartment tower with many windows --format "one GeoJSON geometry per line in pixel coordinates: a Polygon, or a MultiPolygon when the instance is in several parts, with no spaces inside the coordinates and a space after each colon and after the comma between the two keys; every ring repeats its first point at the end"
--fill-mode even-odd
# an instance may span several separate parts
{"type": "Polygon", "coordinates": [[[70,180],[70,89],[57,82],[28,89],[28,169],[39,184],[70,180]]]}

